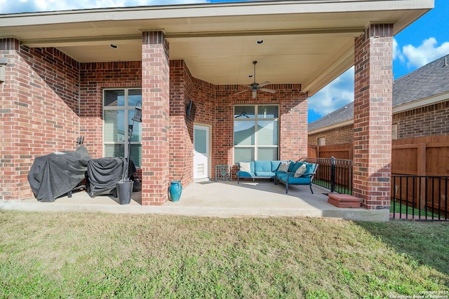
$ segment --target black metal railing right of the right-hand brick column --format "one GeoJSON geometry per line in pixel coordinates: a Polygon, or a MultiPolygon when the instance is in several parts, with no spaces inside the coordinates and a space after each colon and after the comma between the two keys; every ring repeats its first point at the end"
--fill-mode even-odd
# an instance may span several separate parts
{"type": "Polygon", "coordinates": [[[448,221],[449,176],[391,175],[392,218],[448,221]]]}

